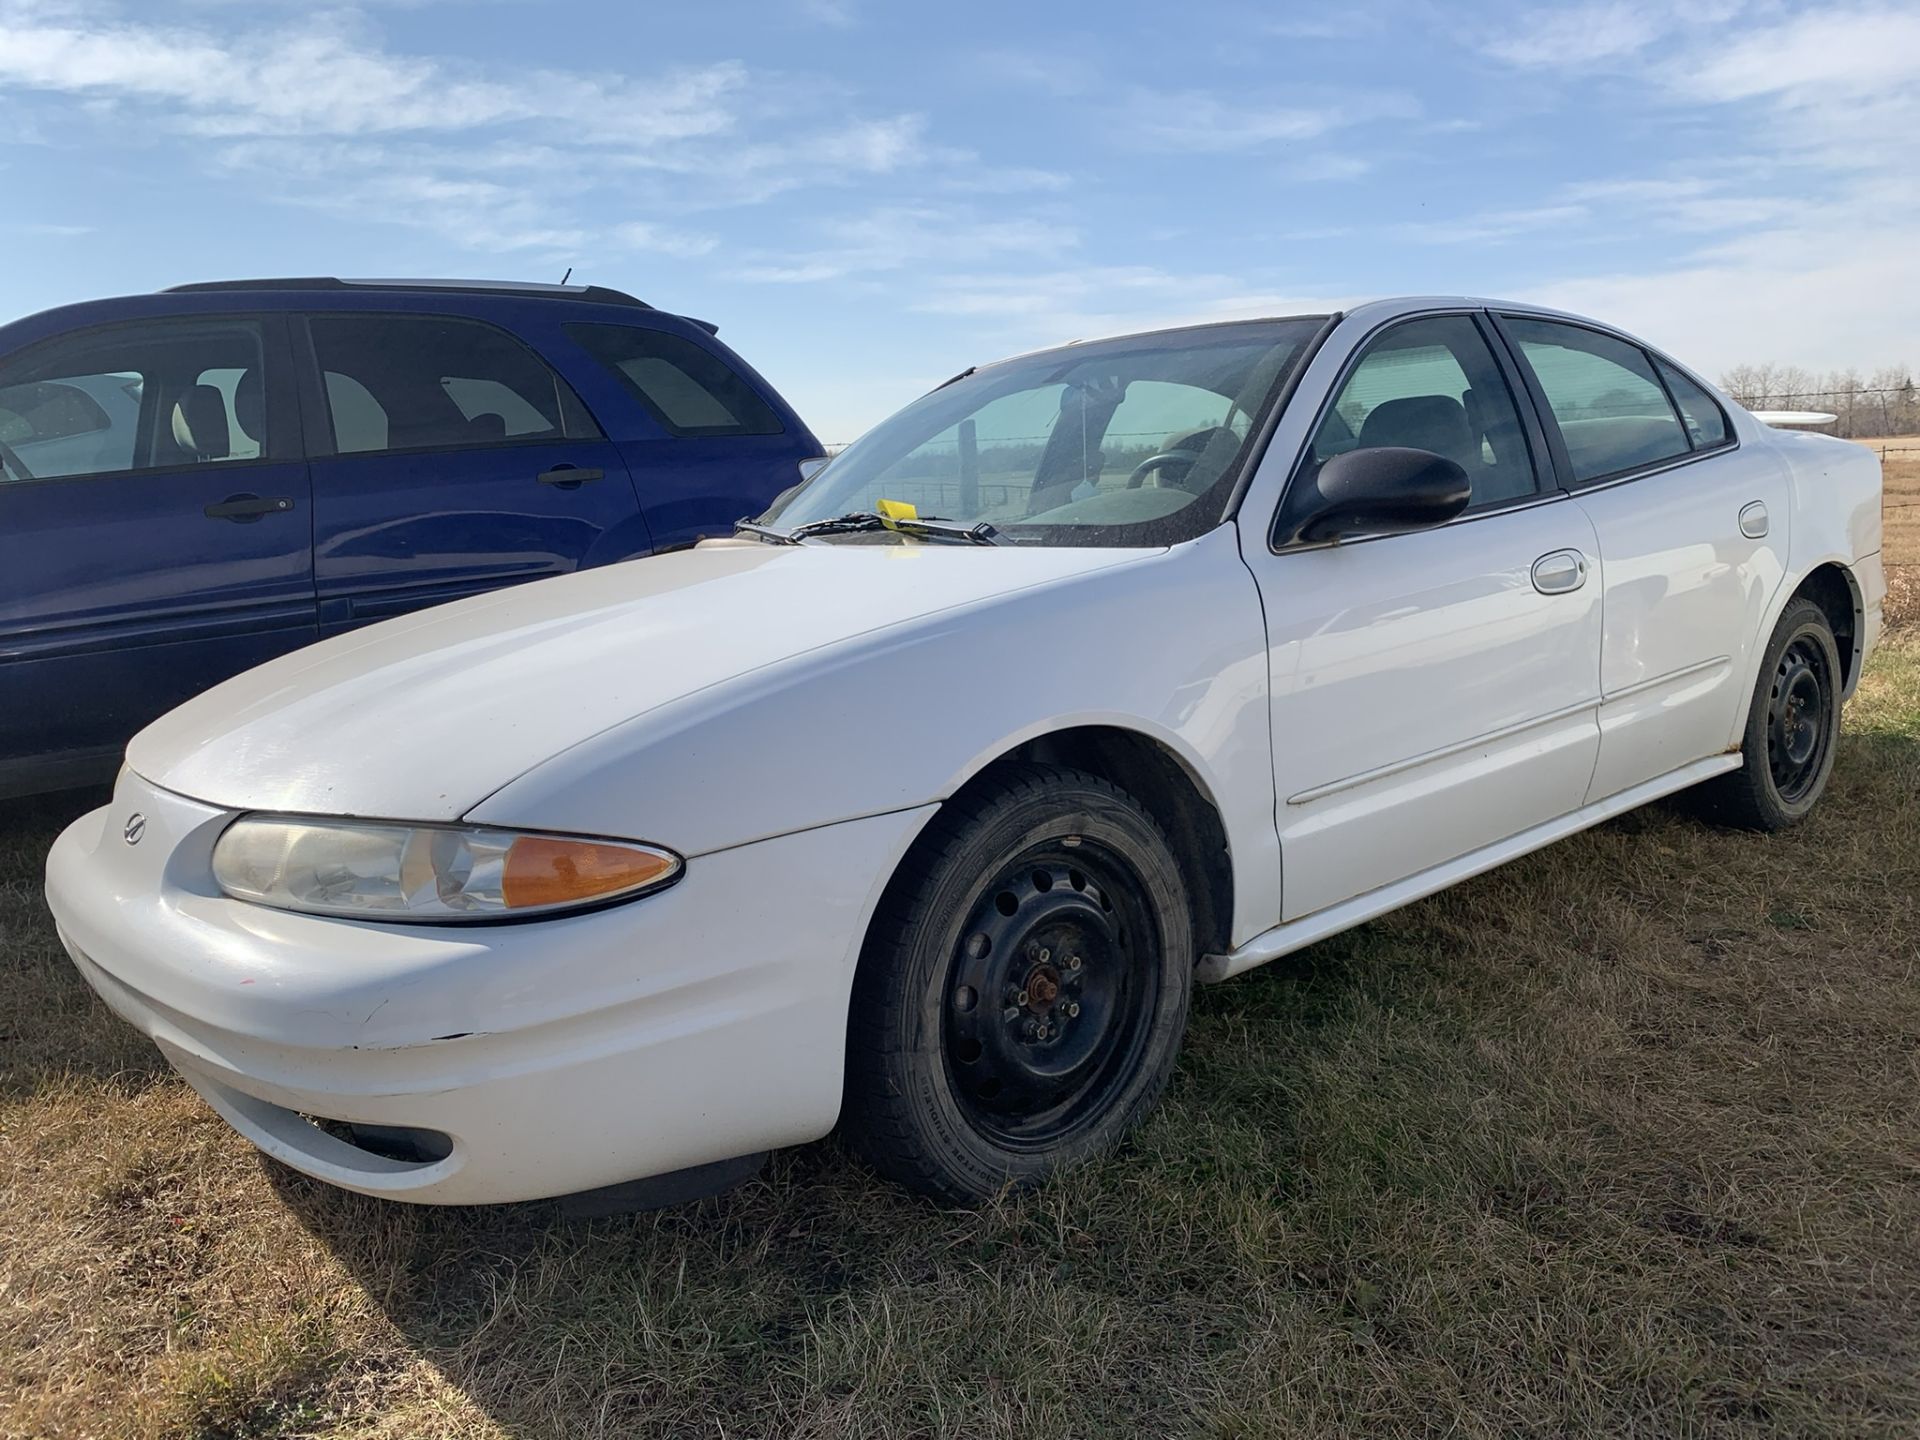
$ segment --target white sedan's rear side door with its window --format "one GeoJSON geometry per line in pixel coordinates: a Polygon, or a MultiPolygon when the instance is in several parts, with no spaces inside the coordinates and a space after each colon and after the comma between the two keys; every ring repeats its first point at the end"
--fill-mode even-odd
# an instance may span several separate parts
{"type": "Polygon", "coordinates": [[[1532,315],[1500,324],[1599,538],[1599,801],[1732,743],[1786,574],[1788,476],[1640,346],[1532,315]]]}

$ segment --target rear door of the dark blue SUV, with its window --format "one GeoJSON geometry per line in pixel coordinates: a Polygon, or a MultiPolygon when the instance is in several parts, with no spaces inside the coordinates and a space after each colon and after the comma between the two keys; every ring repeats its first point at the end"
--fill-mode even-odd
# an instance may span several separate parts
{"type": "Polygon", "coordinates": [[[651,549],[620,451],[518,336],[374,311],[305,334],[323,634],[651,549]]]}

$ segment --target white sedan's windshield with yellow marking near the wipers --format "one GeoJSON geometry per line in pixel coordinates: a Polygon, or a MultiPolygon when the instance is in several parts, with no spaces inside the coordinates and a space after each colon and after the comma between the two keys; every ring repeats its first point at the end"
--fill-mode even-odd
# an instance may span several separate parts
{"type": "Polygon", "coordinates": [[[989,365],[883,420],[760,522],[793,530],[887,499],[1023,545],[1192,540],[1225,516],[1248,438],[1319,328],[1206,324],[989,365]]]}

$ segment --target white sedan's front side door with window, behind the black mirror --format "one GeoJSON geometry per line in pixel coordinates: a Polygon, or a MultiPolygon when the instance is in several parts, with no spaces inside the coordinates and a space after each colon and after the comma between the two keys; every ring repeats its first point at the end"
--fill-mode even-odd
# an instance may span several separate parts
{"type": "Polygon", "coordinates": [[[1344,449],[1430,449],[1473,480],[1457,520],[1281,553],[1242,532],[1267,614],[1283,920],[1586,795],[1599,747],[1594,528],[1542,482],[1538,432],[1482,324],[1419,317],[1371,340],[1292,488],[1344,449]]]}

